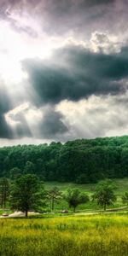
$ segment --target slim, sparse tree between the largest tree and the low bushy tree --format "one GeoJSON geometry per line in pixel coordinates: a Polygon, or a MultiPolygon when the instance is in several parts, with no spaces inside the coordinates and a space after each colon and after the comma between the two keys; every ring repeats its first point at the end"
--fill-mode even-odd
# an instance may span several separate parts
{"type": "Polygon", "coordinates": [[[50,209],[51,211],[54,211],[55,209],[55,201],[61,200],[61,191],[59,188],[54,187],[47,191],[47,198],[50,201],[50,209]]]}

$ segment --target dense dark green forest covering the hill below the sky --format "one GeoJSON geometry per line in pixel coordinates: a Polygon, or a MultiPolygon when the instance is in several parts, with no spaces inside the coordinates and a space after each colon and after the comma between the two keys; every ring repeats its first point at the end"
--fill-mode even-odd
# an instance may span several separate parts
{"type": "Polygon", "coordinates": [[[76,183],[128,177],[128,136],[0,148],[0,176],[13,179],[21,173],[76,183]]]}

